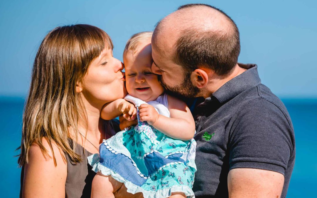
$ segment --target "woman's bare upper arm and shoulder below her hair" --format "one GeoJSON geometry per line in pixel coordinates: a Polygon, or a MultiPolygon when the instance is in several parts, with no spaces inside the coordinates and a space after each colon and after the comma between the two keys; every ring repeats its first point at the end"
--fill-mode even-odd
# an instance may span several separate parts
{"type": "Polygon", "coordinates": [[[65,197],[67,162],[64,153],[52,142],[52,150],[45,138],[42,138],[49,158],[45,158],[37,144],[29,148],[29,163],[24,166],[22,197],[65,197]]]}

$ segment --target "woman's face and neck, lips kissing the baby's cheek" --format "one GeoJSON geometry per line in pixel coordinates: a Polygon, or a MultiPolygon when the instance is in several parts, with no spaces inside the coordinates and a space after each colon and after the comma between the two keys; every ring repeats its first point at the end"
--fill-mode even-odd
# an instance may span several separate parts
{"type": "MultiPolygon", "coordinates": [[[[124,97],[127,92],[124,85],[125,73],[122,72],[123,64],[113,57],[112,49],[105,48],[101,54],[95,58],[81,82],[77,83],[76,91],[81,94],[81,99],[85,105],[88,119],[87,138],[94,145],[99,145],[102,139],[105,139],[104,122],[100,118],[100,111],[105,103],[124,97]],[[98,116],[98,117],[97,117],[98,116]],[[98,118],[98,119],[97,119],[98,118]],[[89,137],[90,138],[89,138],[89,137]],[[99,137],[99,139],[98,139],[99,137]],[[92,140],[90,140],[92,139],[92,140]]],[[[81,121],[84,123],[83,121],[81,121]]],[[[80,123],[79,130],[86,134],[85,126],[80,123]]],[[[79,141],[82,138],[79,138],[79,141]]],[[[81,143],[81,142],[79,142],[81,143]]],[[[84,144],[84,142],[82,142],[84,144]]],[[[96,150],[95,147],[87,141],[88,151],[96,150]]],[[[97,151],[94,151],[97,152],[97,151]]]]}

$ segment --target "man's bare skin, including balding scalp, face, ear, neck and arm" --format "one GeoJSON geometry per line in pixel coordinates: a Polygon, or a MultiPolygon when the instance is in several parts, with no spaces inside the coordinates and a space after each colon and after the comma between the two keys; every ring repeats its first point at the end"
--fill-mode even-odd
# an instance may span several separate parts
{"type": "MultiPolygon", "coordinates": [[[[164,18],[159,33],[154,30],[152,36],[152,72],[162,75],[162,84],[179,94],[189,90],[180,89],[178,85],[188,76],[181,75],[177,70],[181,67],[173,62],[175,43],[180,31],[191,27],[200,30],[230,32],[230,23],[220,12],[211,8],[200,6],[177,10],[164,18]],[[175,75],[177,73],[177,75],[175,75]],[[175,90],[177,88],[178,90],[175,90]]],[[[198,65],[189,76],[193,86],[200,89],[192,97],[210,97],[221,86],[245,71],[238,64],[227,76],[219,76],[211,69],[198,65]]],[[[129,125],[128,122],[121,126],[129,125]]],[[[280,197],[284,184],[281,173],[260,170],[237,168],[229,171],[228,192],[229,197],[280,197]]]]}

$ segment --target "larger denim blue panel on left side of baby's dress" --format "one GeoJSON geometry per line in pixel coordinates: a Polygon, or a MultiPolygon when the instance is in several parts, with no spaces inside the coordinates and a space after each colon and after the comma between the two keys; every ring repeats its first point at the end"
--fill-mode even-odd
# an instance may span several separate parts
{"type": "Polygon", "coordinates": [[[146,179],[139,176],[136,167],[133,166],[132,160],[123,154],[114,154],[106,148],[104,144],[100,145],[100,163],[105,167],[118,173],[126,180],[133,184],[142,186],[146,179]],[[102,156],[102,157],[101,157],[102,156]]]}

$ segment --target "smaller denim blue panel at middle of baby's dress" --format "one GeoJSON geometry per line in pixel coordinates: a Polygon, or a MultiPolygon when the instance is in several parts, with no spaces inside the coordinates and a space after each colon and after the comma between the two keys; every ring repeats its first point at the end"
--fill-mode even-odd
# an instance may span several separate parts
{"type": "Polygon", "coordinates": [[[162,156],[161,154],[158,154],[157,152],[153,152],[152,154],[147,155],[144,158],[144,162],[146,165],[146,168],[149,172],[149,175],[152,175],[155,171],[157,171],[160,167],[167,163],[171,162],[183,162],[185,161],[180,158],[183,154],[177,153],[170,155],[168,158],[165,158],[165,156],[162,156]]]}

